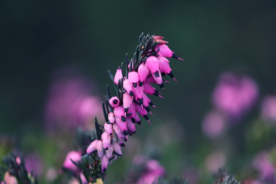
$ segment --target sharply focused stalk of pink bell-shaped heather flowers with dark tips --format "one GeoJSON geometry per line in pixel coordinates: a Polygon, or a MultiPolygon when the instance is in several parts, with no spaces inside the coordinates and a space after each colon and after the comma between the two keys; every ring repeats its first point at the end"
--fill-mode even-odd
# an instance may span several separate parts
{"type": "Polygon", "coordinates": [[[147,113],[152,114],[150,106],[155,106],[147,94],[163,98],[151,83],[164,89],[164,82],[168,81],[164,81],[162,76],[168,74],[175,80],[166,57],[182,59],[172,52],[166,43],[168,42],[164,41],[163,37],[150,34],[144,36],[142,33],[133,58],[129,61],[126,55],[125,73],[123,63],[115,76],[108,70],[117,96],[111,97],[107,85],[105,102],[102,102],[106,122],[100,125],[95,117],[96,136],[91,136],[87,154],[82,157],[82,162],[83,159],[90,159],[89,168],[86,164],[82,165],[82,162],[73,162],[83,169],[88,182],[93,183],[103,178],[108,164],[122,156],[123,141],[127,141],[128,135],[135,133],[135,123],[141,125],[139,114],[150,123],[147,113]]]}

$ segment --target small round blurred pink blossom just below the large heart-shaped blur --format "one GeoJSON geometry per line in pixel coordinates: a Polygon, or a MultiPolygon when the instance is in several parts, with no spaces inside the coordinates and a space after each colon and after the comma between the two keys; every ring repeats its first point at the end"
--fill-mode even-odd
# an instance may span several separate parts
{"type": "Polygon", "coordinates": [[[226,126],[226,120],[222,113],[216,111],[208,112],[202,122],[202,131],[210,138],[220,136],[226,126]]]}

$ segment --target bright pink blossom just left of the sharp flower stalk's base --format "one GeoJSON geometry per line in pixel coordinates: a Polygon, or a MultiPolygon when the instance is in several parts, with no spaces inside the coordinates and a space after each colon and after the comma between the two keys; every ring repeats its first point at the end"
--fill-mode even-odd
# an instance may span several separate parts
{"type": "Polygon", "coordinates": [[[66,158],[65,158],[64,163],[63,163],[63,168],[68,169],[68,170],[72,171],[73,173],[77,173],[81,169],[78,168],[75,164],[73,164],[73,162],[71,161],[71,159],[74,162],[78,163],[78,161],[81,161],[81,153],[77,152],[77,151],[70,151],[66,155],[66,158]]]}

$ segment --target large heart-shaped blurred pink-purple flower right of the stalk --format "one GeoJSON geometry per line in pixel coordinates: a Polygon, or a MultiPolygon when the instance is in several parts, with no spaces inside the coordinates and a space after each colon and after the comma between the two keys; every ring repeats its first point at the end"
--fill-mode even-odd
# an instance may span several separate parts
{"type": "Polygon", "coordinates": [[[214,107],[231,118],[239,120],[258,100],[258,85],[247,76],[236,76],[231,72],[221,74],[212,94],[214,107]]]}

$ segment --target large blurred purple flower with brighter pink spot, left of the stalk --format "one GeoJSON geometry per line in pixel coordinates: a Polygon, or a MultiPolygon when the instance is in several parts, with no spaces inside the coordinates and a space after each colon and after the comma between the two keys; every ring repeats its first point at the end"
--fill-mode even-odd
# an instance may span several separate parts
{"type": "MultiPolygon", "coordinates": [[[[75,72],[71,70],[65,68],[61,73],[75,72]]],[[[102,117],[101,101],[97,96],[90,95],[92,86],[89,81],[79,74],[75,74],[74,77],[53,78],[54,82],[49,88],[45,106],[45,123],[48,130],[75,129],[81,125],[85,126],[96,115],[102,117]]]]}

